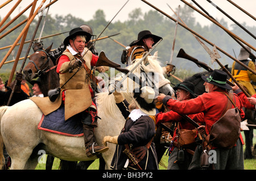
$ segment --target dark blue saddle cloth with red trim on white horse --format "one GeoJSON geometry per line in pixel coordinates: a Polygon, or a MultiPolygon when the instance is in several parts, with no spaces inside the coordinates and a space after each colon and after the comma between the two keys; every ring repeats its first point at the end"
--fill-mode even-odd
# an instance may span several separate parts
{"type": "Polygon", "coordinates": [[[66,136],[83,136],[80,113],[65,121],[64,111],[64,106],[60,106],[56,111],[46,116],[43,115],[38,124],[38,129],[66,136]]]}

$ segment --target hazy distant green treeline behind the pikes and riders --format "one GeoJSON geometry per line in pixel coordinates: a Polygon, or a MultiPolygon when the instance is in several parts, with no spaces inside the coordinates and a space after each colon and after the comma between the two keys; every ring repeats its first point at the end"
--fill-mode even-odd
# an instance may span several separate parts
{"type": "MultiPolygon", "coordinates": [[[[197,22],[195,17],[192,14],[193,10],[189,7],[185,6],[181,7],[180,10],[180,17],[183,21],[187,24],[189,28],[199,33],[201,36],[204,36],[206,39],[211,41],[212,43],[216,44],[218,47],[222,48],[229,54],[234,56],[234,52],[236,56],[238,56],[240,52],[240,45],[236,43],[224,30],[220,27],[217,27],[215,24],[210,26],[201,26],[200,22],[197,22]]],[[[176,17],[170,10],[170,15],[176,17]]],[[[0,17],[1,19],[2,17],[0,17]]],[[[16,20],[10,27],[8,27],[4,32],[10,30],[10,28],[14,27],[22,20],[26,19],[27,17],[22,15],[18,20],[16,20]]],[[[81,24],[88,24],[92,27],[93,34],[98,36],[104,30],[105,26],[109,23],[109,20],[106,20],[104,10],[97,10],[93,15],[93,19],[85,21],[86,17],[76,18],[71,14],[65,16],[51,16],[51,12],[47,16],[47,22],[44,27],[43,35],[52,35],[55,33],[61,33],[65,31],[69,31],[72,28],[79,27],[81,24]]],[[[9,22],[8,19],[6,22],[9,22]]],[[[205,21],[208,21],[205,19],[205,21]]],[[[225,22],[223,19],[218,20],[224,27],[228,27],[228,23],[225,22]]],[[[30,29],[28,31],[27,39],[31,40],[31,36],[34,33],[36,24],[38,22],[38,17],[32,22],[30,29]]],[[[242,23],[242,22],[240,22],[242,23]]],[[[250,24],[242,23],[244,27],[247,28],[250,32],[256,34],[256,27],[250,26],[250,24]]],[[[0,48],[5,47],[7,45],[12,45],[18,37],[20,31],[22,31],[24,27],[20,26],[15,31],[11,32],[6,37],[3,37],[0,41],[0,48]]],[[[172,49],[172,41],[174,39],[174,29],[175,29],[175,22],[168,19],[166,16],[163,16],[159,12],[155,10],[150,10],[146,13],[142,13],[140,8],[134,9],[129,14],[129,19],[117,22],[113,22],[109,25],[108,28],[104,31],[101,37],[114,35],[115,33],[120,33],[117,36],[113,36],[112,39],[117,40],[119,43],[123,45],[128,45],[131,41],[137,39],[138,32],[142,30],[150,30],[153,34],[163,37],[163,41],[155,48],[158,50],[159,60],[162,61],[163,65],[166,65],[166,62],[170,61],[170,54],[172,49]]],[[[39,37],[40,31],[42,30],[42,23],[38,29],[38,33],[36,37],[39,37]]],[[[236,35],[240,36],[243,40],[247,41],[247,43],[253,45],[255,47],[255,40],[250,37],[245,31],[243,31],[240,27],[236,24],[232,24],[230,31],[235,33],[236,35]],[[254,43],[254,44],[253,44],[254,43]]],[[[2,32],[2,33],[4,33],[2,32]]],[[[53,49],[58,48],[61,42],[68,36],[68,33],[64,33],[59,36],[50,37],[48,39],[43,39],[44,48],[47,48],[51,43],[53,43],[53,49]]],[[[207,43],[205,43],[207,44],[207,43]]],[[[207,46],[212,49],[210,45],[207,46]]],[[[28,44],[24,45],[23,52],[20,57],[24,57],[25,53],[27,52],[28,44]]],[[[121,45],[115,43],[111,39],[100,40],[95,45],[97,51],[100,53],[104,51],[106,56],[118,64],[121,64],[121,54],[122,50],[124,49],[121,45]]],[[[201,47],[201,45],[196,41],[196,39],[192,36],[191,32],[185,30],[183,27],[179,26],[177,29],[177,37],[175,43],[175,51],[174,51],[174,60],[172,64],[176,66],[176,69],[187,70],[191,71],[191,73],[196,73],[199,71],[204,71],[203,68],[198,68],[193,62],[185,60],[183,58],[176,58],[179,49],[183,48],[185,52],[189,55],[197,58],[199,61],[203,61],[207,63],[210,67],[219,68],[217,63],[213,65],[210,64],[210,57],[208,53],[201,47]]],[[[0,56],[3,58],[6,52],[9,49],[0,50],[0,56]]],[[[153,51],[153,53],[155,52],[153,51]]],[[[18,51],[18,46],[14,49],[14,53],[9,56],[7,61],[13,60],[16,57],[16,52],[18,51]]],[[[30,50],[30,54],[32,54],[32,49],[30,50]]],[[[233,60],[227,57],[225,54],[219,52],[221,57],[220,61],[222,64],[232,66],[233,60]]],[[[1,60],[2,60],[1,58],[1,60]]],[[[17,66],[17,71],[20,69],[20,61],[19,65],[17,66]]],[[[122,65],[125,66],[125,65],[122,65]]],[[[1,68],[1,73],[9,72],[13,67],[13,63],[5,64],[1,68]]],[[[186,71],[186,72],[187,72],[186,71]]],[[[178,72],[178,71],[177,71],[178,72]]],[[[181,71],[183,72],[183,71],[181,71]]],[[[190,74],[191,74],[190,73],[190,74]]],[[[182,75],[180,75],[183,77],[182,75]]]]}

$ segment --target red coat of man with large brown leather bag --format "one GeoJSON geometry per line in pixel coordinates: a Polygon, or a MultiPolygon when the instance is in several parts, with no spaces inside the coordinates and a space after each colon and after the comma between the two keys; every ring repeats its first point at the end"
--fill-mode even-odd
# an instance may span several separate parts
{"type": "MultiPolygon", "coordinates": [[[[174,99],[169,99],[166,104],[168,108],[170,108],[170,110],[180,114],[193,115],[203,112],[205,131],[207,134],[209,134],[210,128],[218,119],[220,119],[222,113],[226,108],[226,104],[228,103],[228,98],[226,97],[226,95],[219,91],[222,90],[216,89],[212,92],[199,95],[195,99],[190,99],[182,102],[174,99]]],[[[241,111],[241,119],[243,119],[245,117],[245,113],[242,110],[242,100],[238,97],[237,94],[233,95],[236,99],[236,106],[241,111]]],[[[232,108],[234,108],[233,104],[232,108]]]]}

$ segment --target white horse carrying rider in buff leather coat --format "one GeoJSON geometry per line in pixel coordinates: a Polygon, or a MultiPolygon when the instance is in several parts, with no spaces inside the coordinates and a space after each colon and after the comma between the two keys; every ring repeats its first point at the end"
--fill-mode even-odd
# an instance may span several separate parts
{"type": "MultiPolygon", "coordinates": [[[[127,69],[132,69],[139,60],[127,69]]],[[[159,62],[154,57],[148,57],[143,61],[134,73],[158,73],[159,92],[173,94],[174,90],[170,86],[170,81],[163,76],[163,70],[159,62]]],[[[152,74],[151,74],[152,75],[152,74]]],[[[154,76],[153,76],[154,77],[154,76]]],[[[155,76],[156,77],[156,76],[155,76]]],[[[129,90],[130,79],[123,82],[123,89],[129,90]]],[[[132,85],[132,84],[130,84],[132,85]]],[[[127,91],[123,96],[130,101],[131,92],[127,91]]],[[[95,135],[98,144],[102,144],[104,136],[115,136],[121,132],[125,124],[125,119],[115,105],[114,95],[108,92],[98,93],[96,98],[98,106],[98,128],[95,135]]],[[[11,157],[10,169],[35,169],[42,151],[54,157],[67,161],[89,161],[97,159],[96,156],[88,158],[85,154],[84,138],[69,137],[38,129],[42,111],[32,100],[27,99],[14,104],[14,106],[0,107],[0,167],[3,165],[3,144],[11,157]]],[[[115,145],[109,144],[109,150],[102,154],[106,162],[106,169],[109,169],[113,158],[115,145]]]]}

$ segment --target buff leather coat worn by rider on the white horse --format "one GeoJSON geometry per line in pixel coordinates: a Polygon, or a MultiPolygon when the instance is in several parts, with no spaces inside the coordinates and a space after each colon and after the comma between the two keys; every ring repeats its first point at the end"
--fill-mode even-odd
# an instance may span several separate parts
{"type": "MultiPolygon", "coordinates": [[[[86,50],[87,48],[85,48],[85,51],[86,50]]],[[[60,62],[62,58],[66,58],[69,61],[76,60],[76,58],[67,49],[59,58],[57,58],[57,63],[60,62]]],[[[84,63],[89,69],[91,60],[92,52],[88,51],[84,56],[84,63]]],[[[52,103],[48,97],[31,98],[31,100],[38,105],[44,115],[47,115],[60,107],[63,101],[63,91],[65,91],[65,120],[79,112],[86,110],[90,105],[92,105],[92,98],[89,89],[90,81],[86,76],[86,70],[84,68],[80,68],[80,70],[77,71],[78,68],[76,68],[72,73],[69,73],[69,61],[63,62],[59,68],[60,87],[63,86],[73,74],[75,75],[61,88],[61,94],[55,100],[55,102],[52,103]]]]}

